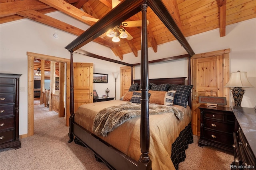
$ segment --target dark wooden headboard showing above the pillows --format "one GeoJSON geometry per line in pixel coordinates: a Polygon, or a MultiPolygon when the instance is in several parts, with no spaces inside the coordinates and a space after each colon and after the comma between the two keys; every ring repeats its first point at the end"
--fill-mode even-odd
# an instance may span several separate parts
{"type": "MultiPolygon", "coordinates": [[[[150,83],[154,83],[154,84],[181,84],[184,85],[185,84],[185,79],[186,77],[177,77],[177,78],[152,78],[149,79],[150,83]]],[[[133,80],[134,83],[138,83],[140,84],[140,80],[133,80]]]]}

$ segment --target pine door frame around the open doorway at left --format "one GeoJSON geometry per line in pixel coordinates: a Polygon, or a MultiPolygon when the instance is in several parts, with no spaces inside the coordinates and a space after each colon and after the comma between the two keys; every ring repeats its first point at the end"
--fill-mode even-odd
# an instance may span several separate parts
{"type": "MultiPolygon", "coordinates": [[[[27,52],[28,56],[28,136],[34,135],[34,58],[66,64],[66,80],[70,80],[70,59],[27,52]]],[[[66,126],[70,117],[70,82],[66,82],[66,126]]],[[[23,136],[24,137],[24,136],[23,136]]]]}

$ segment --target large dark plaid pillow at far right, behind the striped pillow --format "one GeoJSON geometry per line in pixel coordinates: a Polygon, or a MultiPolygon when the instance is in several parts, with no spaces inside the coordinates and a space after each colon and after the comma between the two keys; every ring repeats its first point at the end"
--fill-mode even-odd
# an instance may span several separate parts
{"type": "Polygon", "coordinates": [[[188,96],[191,92],[192,87],[193,85],[171,84],[169,90],[176,90],[173,104],[177,104],[186,108],[188,96]]]}

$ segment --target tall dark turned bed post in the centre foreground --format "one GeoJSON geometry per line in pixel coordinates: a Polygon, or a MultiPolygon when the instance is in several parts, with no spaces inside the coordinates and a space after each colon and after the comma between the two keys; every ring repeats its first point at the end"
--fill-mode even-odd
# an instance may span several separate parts
{"type": "Polygon", "coordinates": [[[141,118],[140,118],[140,162],[151,169],[151,160],[148,155],[150,136],[149,136],[149,98],[148,98],[148,37],[147,37],[147,8],[148,4],[141,5],[142,10],[142,44],[141,44],[141,118]]]}

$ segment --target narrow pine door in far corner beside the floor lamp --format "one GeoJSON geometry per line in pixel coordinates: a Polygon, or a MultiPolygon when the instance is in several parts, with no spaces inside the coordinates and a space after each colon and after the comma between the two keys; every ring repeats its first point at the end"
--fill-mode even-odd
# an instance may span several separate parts
{"type": "MultiPolygon", "coordinates": [[[[126,92],[128,92],[130,86],[132,85],[132,68],[129,66],[121,67],[120,72],[121,75],[121,95],[120,97],[124,96],[126,92]]],[[[133,69],[133,75],[134,75],[134,69],[133,69]]]]}

